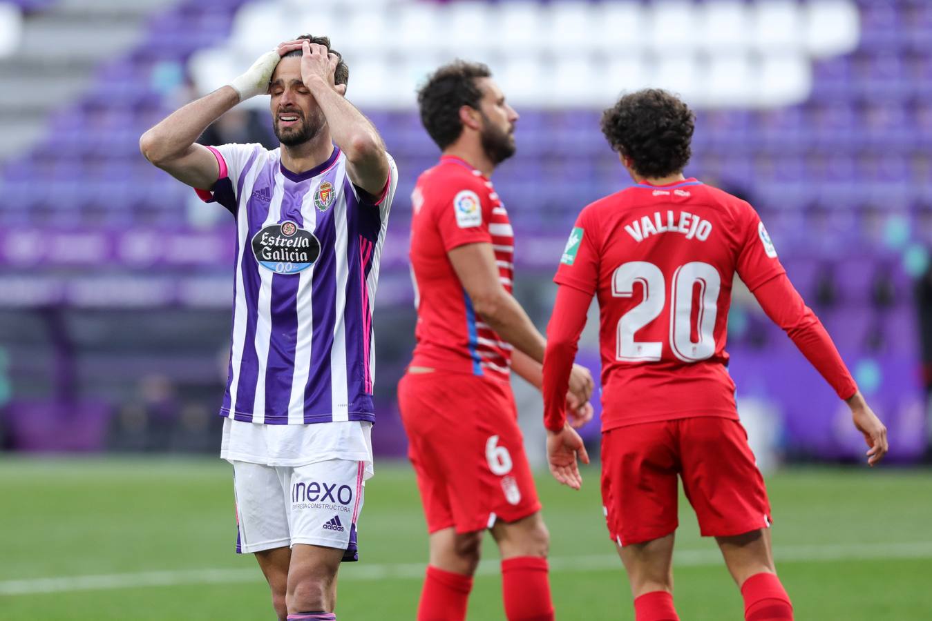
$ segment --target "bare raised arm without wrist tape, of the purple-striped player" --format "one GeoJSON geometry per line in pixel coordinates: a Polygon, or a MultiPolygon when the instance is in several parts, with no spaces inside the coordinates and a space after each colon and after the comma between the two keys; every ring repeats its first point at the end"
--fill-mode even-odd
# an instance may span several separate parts
{"type": "Polygon", "coordinates": [[[303,51],[301,79],[321,107],[333,141],[347,156],[350,181],[368,194],[380,196],[390,174],[385,143],[369,119],[344,97],[346,82],[336,84],[340,57],[334,52],[328,55],[327,47],[308,41],[285,44],[282,49],[299,48],[303,51]]]}

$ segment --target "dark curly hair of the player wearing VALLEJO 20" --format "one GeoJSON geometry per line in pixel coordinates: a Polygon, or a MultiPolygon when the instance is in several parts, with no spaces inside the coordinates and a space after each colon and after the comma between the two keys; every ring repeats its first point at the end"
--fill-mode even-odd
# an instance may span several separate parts
{"type": "Polygon", "coordinates": [[[630,157],[635,172],[647,178],[686,168],[694,127],[689,106],[659,88],[624,95],[602,113],[602,133],[611,148],[630,157]]]}

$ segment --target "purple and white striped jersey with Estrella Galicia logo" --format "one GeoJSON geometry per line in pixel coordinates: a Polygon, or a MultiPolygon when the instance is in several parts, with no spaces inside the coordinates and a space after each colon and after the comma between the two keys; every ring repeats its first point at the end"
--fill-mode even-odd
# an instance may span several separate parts
{"type": "Polygon", "coordinates": [[[237,221],[233,337],[220,415],[268,425],[375,421],[372,308],[398,182],[349,181],[346,156],[295,174],[281,150],[209,147],[220,179],[204,200],[237,221]]]}

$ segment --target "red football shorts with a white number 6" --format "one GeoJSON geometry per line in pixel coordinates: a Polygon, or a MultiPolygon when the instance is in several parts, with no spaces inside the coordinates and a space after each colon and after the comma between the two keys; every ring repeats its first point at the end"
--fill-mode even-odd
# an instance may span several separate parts
{"type": "Polygon", "coordinates": [[[491,528],[541,510],[512,387],[466,373],[407,373],[398,404],[427,530],[491,528]]]}

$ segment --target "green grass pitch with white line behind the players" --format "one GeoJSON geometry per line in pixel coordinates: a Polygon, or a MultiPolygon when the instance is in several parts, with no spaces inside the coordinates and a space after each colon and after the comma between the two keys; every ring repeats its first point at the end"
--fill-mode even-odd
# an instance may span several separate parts
{"type": "MultiPolygon", "coordinates": [[[[557,618],[632,619],[596,467],[584,477],[580,493],[538,477],[557,618]]],[[[767,485],[777,569],[798,619],[932,618],[932,472],[789,468],[767,485]]],[[[255,561],[232,553],[232,496],[219,460],[0,460],[0,619],[274,618],[255,561]]],[[[426,542],[410,469],[377,464],[360,522],[362,562],[340,572],[338,618],[413,619],[426,542]]],[[[485,552],[469,618],[501,619],[490,539],[485,552]]],[[[714,542],[698,536],[682,501],[677,559],[684,620],[742,618],[714,542]]]]}

